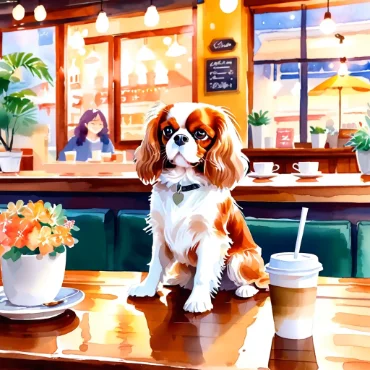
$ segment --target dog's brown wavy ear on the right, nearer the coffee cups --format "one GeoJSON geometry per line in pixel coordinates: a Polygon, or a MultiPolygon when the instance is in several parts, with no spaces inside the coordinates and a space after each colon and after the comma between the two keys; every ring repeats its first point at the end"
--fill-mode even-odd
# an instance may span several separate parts
{"type": "Polygon", "coordinates": [[[241,151],[240,137],[228,112],[207,109],[216,132],[208,150],[204,174],[218,188],[232,189],[245,175],[248,159],[241,151]]]}

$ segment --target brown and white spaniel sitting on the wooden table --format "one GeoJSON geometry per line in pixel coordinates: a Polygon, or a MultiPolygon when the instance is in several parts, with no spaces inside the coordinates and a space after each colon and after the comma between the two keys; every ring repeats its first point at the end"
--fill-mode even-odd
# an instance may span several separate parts
{"type": "Polygon", "coordinates": [[[130,296],[152,297],[160,283],[180,285],[192,289],[184,309],[205,312],[224,268],[239,297],[267,288],[260,247],[230,193],[248,168],[235,124],[227,110],[201,103],[157,104],[149,112],[135,158],[139,178],[154,184],[147,220],[152,259],[130,296]],[[178,183],[201,187],[176,205],[178,183]]]}

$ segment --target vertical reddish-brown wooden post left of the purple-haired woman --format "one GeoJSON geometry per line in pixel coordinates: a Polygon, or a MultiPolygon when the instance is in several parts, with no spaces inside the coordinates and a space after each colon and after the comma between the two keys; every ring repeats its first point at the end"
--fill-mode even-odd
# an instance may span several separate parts
{"type": "Polygon", "coordinates": [[[67,125],[67,89],[66,89],[66,45],[67,32],[65,25],[55,27],[55,53],[56,53],[56,106],[55,106],[55,131],[57,157],[68,141],[67,125]]]}

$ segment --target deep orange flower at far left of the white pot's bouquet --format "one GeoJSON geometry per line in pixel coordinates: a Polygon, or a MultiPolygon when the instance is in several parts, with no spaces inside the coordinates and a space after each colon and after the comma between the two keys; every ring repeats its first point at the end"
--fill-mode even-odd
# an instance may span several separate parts
{"type": "Polygon", "coordinates": [[[7,225],[6,236],[2,244],[9,247],[23,248],[28,244],[28,234],[32,231],[35,222],[15,216],[7,225]]]}

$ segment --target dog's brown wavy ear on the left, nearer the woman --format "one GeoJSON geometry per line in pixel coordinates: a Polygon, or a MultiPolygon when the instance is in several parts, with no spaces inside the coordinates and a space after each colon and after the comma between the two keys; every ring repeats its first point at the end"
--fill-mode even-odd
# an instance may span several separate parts
{"type": "Polygon", "coordinates": [[[146,116],[148,123],[144,140],[134,155],[137,174],[144,184],[154,184],[162,172],[164,156],[161,152],[162,141],[159,125],[167,118],[171,108],[172,106],[159,103],[146,116]]]}

